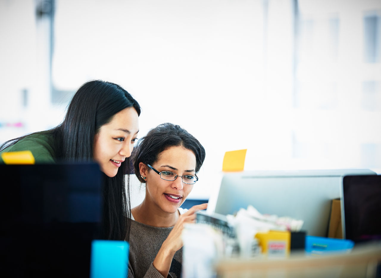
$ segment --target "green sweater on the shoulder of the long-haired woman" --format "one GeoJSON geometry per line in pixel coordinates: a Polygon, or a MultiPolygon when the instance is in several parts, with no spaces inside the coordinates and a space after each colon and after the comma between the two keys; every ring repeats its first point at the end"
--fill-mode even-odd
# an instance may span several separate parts
{"type": "Polygon", "coordinates": [[[3,152],[19,152],[30,150],[35,163],[54,163],[56,160],[55,140],[50,133],[31,134],[18,141],[16,144],[5,148],[0,152],[0,164],[4,164],[1,158],[3,152]]]}

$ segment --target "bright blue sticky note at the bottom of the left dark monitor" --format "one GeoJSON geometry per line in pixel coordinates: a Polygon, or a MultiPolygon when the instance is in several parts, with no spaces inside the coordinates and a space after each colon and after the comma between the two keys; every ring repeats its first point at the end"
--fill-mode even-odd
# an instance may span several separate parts
{"type": "Polygon", "coordinates": [[[129,244],[118,240],[93,240],[90,278],[126,278],[129,244]]]}

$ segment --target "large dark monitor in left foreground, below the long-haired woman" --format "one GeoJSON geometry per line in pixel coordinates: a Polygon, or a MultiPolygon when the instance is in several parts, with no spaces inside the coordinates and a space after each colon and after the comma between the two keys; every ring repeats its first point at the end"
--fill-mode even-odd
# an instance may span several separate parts
{"type": "Polygon", "coordinates": [[[99,166],[0,165],[0,177],[2,275],[89,277],[102,218],[99,166]]]}

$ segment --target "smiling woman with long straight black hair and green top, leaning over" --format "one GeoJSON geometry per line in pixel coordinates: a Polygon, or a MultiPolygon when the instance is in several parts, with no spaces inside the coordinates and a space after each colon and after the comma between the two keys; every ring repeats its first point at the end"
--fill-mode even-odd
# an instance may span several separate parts
{"type": "Polygon", "coordinates": [[[130,155],[139,131],[138,102],[121,86],[93,80],[74,94],[64,121],[53,129],[32,133],[0,145],[1,154],[29,150],[35,163],[96,161],[104,173],[105,239],[129,235],[130,155]]]}

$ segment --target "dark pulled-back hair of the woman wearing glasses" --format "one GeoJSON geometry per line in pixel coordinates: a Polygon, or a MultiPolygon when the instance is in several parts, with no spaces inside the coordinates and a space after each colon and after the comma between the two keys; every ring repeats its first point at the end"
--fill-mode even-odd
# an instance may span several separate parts
{"type": "Polygon", "coordinates": [[[200,170],[205,160],[205,149],[201,143],[179,125],[163,123],[151,129],[146,136],[139,139],[138,144],[134,147],[132,160],[135,175],[140,182],[145,183],[146,181],[140,176],[139,163],[153,165],[163,150],[173,146],[182,146],[191,150],[196,157],[195,172],[200,170]]]}

